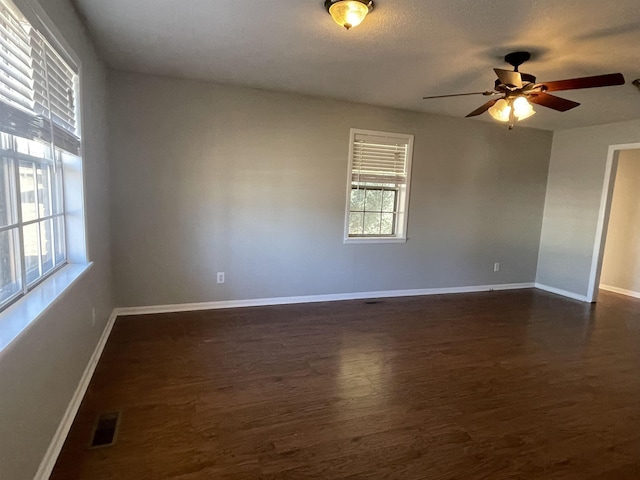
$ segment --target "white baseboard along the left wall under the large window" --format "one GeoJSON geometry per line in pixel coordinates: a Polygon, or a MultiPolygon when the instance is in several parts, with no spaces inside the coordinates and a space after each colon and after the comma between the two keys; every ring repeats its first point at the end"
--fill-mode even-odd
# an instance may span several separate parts
{"type": "Polygon", "coordinates": [[[58,455],[60,455],[60,451],[62,450],[62,446],[64,445],[65,440],[67,439],[67,435],[69,434],[69,430],[71,430],[71,425],[73,424],[73,420],[78,413],[78,409],[80,408],[80,404],[82,403],[82,399],[89,388],[89,383],[91,382],[91,377],[93,377],[93,373],[98,365],[98,360],[100,360],[100,356],[102,355],[102,351],[104,350],[105,345],[107,344],[107,340],[109,335],[111,334],[111,329],[116,321],[117,314],[115,310],[111,313],[107,324],[104,327],[102,335],[100,336],[100,340],[98,341],[98,345],[96,345],[91,358],[89,359],[89,363],[87,364],[82,377],[80,378],[80,383],[76,387],[76,391],[71,397],[71,402],[69,402],[69,406],[67,407],[60,424],[58,425],[58,429],[56,430],[51,443],[49,444],[49,448],[47,449],[47,453],[45,453],[42,462],[40,462],[40,467],[36,472],[34,480],[47,480],[51,476],[51,472],[53,471],[53,467],[56,464],[56,460],[58,459],[58,455]]]}

